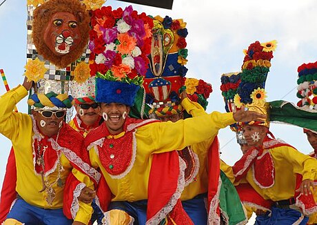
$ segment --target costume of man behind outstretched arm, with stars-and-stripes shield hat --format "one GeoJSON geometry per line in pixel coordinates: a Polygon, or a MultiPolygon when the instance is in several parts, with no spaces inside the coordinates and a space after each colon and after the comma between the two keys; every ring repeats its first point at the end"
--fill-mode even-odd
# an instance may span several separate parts
{"type": "MultiPolygon", "coordinates": [[[[212,92],[212,86],[203,80],[185,78],[188,55],[185,26],[186,23],[183,19],[173,20],[168,16],[165,18],[154,17],[152,48],[149,56],[150,66],[145,76],[144,87],[147,92],[146,102],[152,107],[150,113],[155,117],[171,117],[185,113],[185,110],[190,113],[190,115],[187,114],[188,117],[207,114],[204,108],[207,106],[206,99],[212,92]],[[185,84],[187,96],[192,101],[184,99],[181,103],[179,95],[181,90],[184,90],[185,84]]],[[[230,214],[229,207],[223,204],[225,197],[222,194],[225,191],[223,191],[224,186],[221,186],[221,177],[225,177],[225,175],[221,175],[219,170],[216,133],[200,143],[186,146],[183,150],[178,151],[178,155],[187,166],[185,188],[181,200],[183,208],[194,224],[207,224],[207,222],[219,224],[221,222],[220,214],[225,224],[238,224],[245,220],[241,205],[241,214],[236,210],[234,213],[236,217],[234,217],[230,214]],[[212,173],[208,173],[208,171],[212,171],[212,173]],[[219,204],[220,195],[222,197],[220,200],[223,201],[219,204]],[[205,199],[207,198],[206,210],[205,199]],[[219,208],[221,204],[223,204],[223,208],[219,208]]],[[[227,182],[223,184],[227,184],[227,182]]],[[[233,186],[232,188],[234,189],[233,186]]],[[[236,197],[238,199],[238,195],[236,197]]],[[[238,202],[240,202],[239,199],[238,202]]]]}

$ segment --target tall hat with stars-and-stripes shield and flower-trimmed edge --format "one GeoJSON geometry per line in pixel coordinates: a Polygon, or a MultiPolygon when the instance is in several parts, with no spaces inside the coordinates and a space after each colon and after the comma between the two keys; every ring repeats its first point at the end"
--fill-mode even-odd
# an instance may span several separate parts
{"type": "Polygon", "coordinates": [[[179,90],[185,85],[187,68],[186,23],[183,19],[154,17],[150,67],[144,88],[150,113],[157,116],[173,115],[183,110],[179,90]]]}

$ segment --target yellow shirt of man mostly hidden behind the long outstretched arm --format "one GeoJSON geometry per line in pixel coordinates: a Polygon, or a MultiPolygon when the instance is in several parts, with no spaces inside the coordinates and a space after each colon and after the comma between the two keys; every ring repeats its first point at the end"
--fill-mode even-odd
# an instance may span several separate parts
{"type": "MultiPolygon", "coordinates": [[[[182,106],[185,108],[187,113],[192,115],[192,117],[199,117],[201,115],[207,115],[203,107],[190,99],[185,98],[182,101],[182,106]]],[[[202,141],[197,144],[192,144],[191,148],[198,155],[199,159],[199,170],[196,179],[185,186],[183,193],[181,195],[181,200],[186,201],[188,199],[193,199],[196,195],[207,193],[208,191],[208,171],[207,171],[207,151],[214,141],[217,133],[214,133],[211,138],[202,141]]]]}

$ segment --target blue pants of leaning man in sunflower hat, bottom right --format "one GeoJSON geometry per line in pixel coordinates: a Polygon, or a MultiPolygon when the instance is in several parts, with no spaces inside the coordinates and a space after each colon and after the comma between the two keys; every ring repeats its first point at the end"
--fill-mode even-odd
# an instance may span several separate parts
{"type": "MultiPolygon", "coordinates": [[[[283,224],[291,225],[294,224],[302,215],[300,212],[292,208],[277,208],[273,206],[271,208],[272,215],[269,217],[269,212],[265,215],[258,215],[256,217],[256,225],[273,225],[273,224],[283,224]]],[[[308,217],[304,217],[300,225],[305,225],[308,222],[308,217]]]]}

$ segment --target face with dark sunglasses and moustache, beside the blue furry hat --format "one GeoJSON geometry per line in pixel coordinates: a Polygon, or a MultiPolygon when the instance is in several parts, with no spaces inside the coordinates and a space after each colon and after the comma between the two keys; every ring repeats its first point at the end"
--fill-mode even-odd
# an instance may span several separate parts
{"type": "Polygon", "coordinates": [[[76,104],[75,109],[79,118],[86,126],[92,126],[99,118],[100,107],[96,102],[87,102],[85,104],[76,104]]]}

